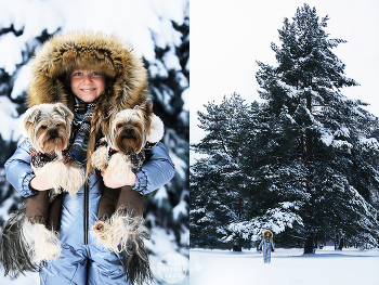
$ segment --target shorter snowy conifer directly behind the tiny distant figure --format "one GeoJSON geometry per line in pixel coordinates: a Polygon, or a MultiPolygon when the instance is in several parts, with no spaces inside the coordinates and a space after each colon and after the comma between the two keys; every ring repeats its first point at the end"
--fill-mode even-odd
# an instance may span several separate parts
{"type": "MultiPolygon", "coordinates": [[[[302,187],[302,165],[285,159],[291,151],[290,132],[284,129],[289,118],[286,111],[272,116],[265,107],[253,102],[248,125],[239,130],[247,133],[241,146],[239,181],[245,210],[239,221],[228,224],[227,238],[240,236],[257,242],[266,229],[280,233],[293,228],[296,233],[302,225],[297,213],[306,195],[302,187]]],[[[280,244],[284,245],[282,241],[280,244]]]]}

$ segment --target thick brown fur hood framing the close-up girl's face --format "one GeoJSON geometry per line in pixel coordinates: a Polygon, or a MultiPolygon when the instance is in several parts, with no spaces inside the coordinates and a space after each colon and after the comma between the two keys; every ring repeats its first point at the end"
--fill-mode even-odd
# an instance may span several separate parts
{"type": "Polygon", "coordinates": [[[116,111],[134,107],[147,96],[147,72],[131,47],[114,36],[76,31],[56,35],[34,59],[28,106],[62,102],[74,108],[67,75],[75,68],[95,69],[106,78],[105,96],[116,111]]]}

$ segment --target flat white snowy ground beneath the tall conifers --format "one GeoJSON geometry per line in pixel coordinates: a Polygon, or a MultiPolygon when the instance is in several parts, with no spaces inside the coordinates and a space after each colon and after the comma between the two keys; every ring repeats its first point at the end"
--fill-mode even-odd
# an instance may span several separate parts
{"type": "Polygon", "coordinates": [[[334,247],[303,256],[302,249],[278,248],[271,264],[256,249],[243,252],[192,249],[191,285],[361,285],[379,284],[379,249],[334,247]]]}

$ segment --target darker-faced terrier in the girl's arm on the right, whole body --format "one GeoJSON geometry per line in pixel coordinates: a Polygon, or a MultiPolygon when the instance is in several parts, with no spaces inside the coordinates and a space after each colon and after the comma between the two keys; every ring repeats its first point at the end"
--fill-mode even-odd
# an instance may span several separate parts
{"type": "MultiPolygon", "coordinates": [[[[134,108],[110,112],[107,119],[103,120],[102,130],[105,145],[92,154],[91,165],[101,171],[107,168],[114,180],[122,182],[132,171],[141,168],[145,150],[153,148],[161,140],[164,122],[154,115],[152,101],[146,100],[134,108]]],[[[143,238],[148,238],[148,232],[143,225],[142,211],[143,195],[129,186],[118,192],[105,187],[99,208],[100,221],[93,226],[97,243],[116,252],[126,249],[130,256],[136,254],[143,260],[148,259],[143,245],[143,238]],[[133,207],[141,200],[136,196],[142,197],[142,209],[141,206],[133,207]]]]}

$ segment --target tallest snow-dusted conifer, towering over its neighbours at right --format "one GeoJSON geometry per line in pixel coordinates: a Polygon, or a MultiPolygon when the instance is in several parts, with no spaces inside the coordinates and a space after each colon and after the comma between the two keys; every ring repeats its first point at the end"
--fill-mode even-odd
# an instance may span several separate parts
{"type": "Polygon", "coordinates": [[[344,64],[331,51],[345,41],[328,38],[327,21],[315,8],[299,8],[278,30],[282,46],[272,44],[277,66],[258,62],[257,73],[262,112],[276,138],[265,150],[272,163],[263,161],[256,179],[278,199],[293,194],[305,254],[322,236],[339,234],[363,247],[378,246],[379,237],[370,198],[379,186],[370,158],[379,155],[373,137],[378,121],[364,103],[342,95],[343,87],[357,83],[344,76],[344,64]]]}

